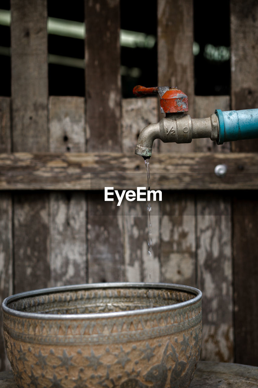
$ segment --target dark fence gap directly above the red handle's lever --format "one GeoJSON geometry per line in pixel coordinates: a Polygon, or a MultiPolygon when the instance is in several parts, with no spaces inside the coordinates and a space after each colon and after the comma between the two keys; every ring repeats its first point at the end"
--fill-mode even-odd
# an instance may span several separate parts
{"type": "Polygon", "coordinates": [[[120,1],[120,14],[122,33],[123,30],[139,33],[132,42],[135,47],[128,47],[126,32],[121,45],[122,96],[133,97],[136,85],[158,86],[157,0],[120,1]]]}

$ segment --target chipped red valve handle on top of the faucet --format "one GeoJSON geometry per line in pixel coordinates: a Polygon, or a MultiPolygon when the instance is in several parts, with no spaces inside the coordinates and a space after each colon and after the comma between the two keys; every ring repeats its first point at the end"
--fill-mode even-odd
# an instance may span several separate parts
{"type": "Polygon", "coordinates": [[[133,94],[136,97],[142,97],[144,94],[159,94],[161,113],[181,113],[188,111],[187,95],[176,87],[155,86],[153,88],[146,88],[137,85],[133,88],[133,94]]]}

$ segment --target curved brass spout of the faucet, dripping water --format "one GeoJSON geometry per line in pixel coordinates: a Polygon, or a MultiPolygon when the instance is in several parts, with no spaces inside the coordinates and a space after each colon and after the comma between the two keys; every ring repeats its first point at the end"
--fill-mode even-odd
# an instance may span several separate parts
{"type": "Polygon", "coordinates": [[[138,137],[135,154],[142,156],[144,159],[151,157],[152,145],[155,139],[160,138],[160,123],[147,125],[138,137]]]}

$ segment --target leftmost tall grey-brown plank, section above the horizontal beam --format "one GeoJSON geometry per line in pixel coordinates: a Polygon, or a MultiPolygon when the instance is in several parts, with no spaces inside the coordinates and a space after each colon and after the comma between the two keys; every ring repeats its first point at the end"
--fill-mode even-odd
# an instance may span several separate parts
{"type": "Polygon", "coordinates": [[[14,151],[48,151],[47,2],[12,0],[14,151]]]}

